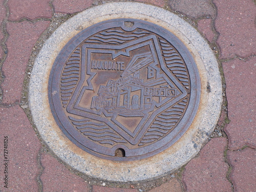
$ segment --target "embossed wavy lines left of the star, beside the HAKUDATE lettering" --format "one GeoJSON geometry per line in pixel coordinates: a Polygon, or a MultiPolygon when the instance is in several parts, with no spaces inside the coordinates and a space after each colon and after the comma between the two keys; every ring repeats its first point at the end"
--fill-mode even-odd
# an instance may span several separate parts
{"type": "Polygon", "coordinates": [[[60,81],[60,93],[61,102],[63,108],[66,108],[71,95],[76,87],[78,79],[80,77],[80,48],[75,50],[71,57],[69,58],[66,66],[62,72],[60,81]]]}

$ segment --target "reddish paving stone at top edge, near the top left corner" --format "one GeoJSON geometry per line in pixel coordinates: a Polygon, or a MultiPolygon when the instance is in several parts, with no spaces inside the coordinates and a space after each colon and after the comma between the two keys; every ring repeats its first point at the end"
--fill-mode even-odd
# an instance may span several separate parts
{"type": "Polygon", "coordinates": [[[9,20],[19,20],[23,17],[36,19],[40,17],[51,18],[52,8],[49,5],[50,0],[8,0],[10,9],[9,20]]]}

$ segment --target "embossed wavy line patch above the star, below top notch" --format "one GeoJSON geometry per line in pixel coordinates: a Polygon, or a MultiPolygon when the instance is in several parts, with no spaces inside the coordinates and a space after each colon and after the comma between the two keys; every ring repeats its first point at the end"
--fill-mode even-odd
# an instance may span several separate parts
{"type": "Polygon", "coordinates": [[[86,42],[93,42],[93,43],[107,43],[107,44],[123,44],[124,42],[134,40],[136,38],[140,38],[148,34],[146,31],[137,30],[135,32],[131,32],[130,34],[124,34],[122,30],[107,30],[101,33],[90,37],[86,42]]]}

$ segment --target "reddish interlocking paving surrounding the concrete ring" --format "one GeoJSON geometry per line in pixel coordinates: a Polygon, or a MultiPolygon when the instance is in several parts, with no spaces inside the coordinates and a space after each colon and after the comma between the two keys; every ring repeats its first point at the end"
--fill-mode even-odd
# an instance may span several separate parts
{"type": "MultiPolygon", "coordinates": [[[[217,138],[212,138],[175,178],[154,186],[151,191],[255,191],[255,3],[252,0],[139,2],[172,9],[193,20],[208,39],[222,62],[230,120],[224,108],[218,128],[224,127],[227,137],[223,132],[222,136],[215,135],[217,138]]],[[[53,15],[76,13],[102,3],[108,1],[0,0],[3,77],[3,81],[0,79],[0,137],[8,135],[10,143],[9,188],[4,188],[1,182],[1,191],[141,191],[137,184],[125,188],[102,186],[102,182],[101,186],[90,184],[70,172],[45,152],[19,107],[31,51],[53,15]]],[[[2,155],[0,161],[3,162],[2,155]]],[[[2,170],[0,179],[4,179],[2,170]]]]}

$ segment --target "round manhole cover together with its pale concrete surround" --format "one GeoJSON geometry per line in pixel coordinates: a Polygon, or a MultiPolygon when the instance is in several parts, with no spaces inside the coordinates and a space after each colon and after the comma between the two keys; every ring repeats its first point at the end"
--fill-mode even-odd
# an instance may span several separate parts
{"type": "Polygon", "coordinates": [[[29,102],[40,138],[69,167],[141,181],[200,151],[219,119],[222,83],[196,29],[164,9],[118,2],[53,32],[34,62],[29,102]]]}

